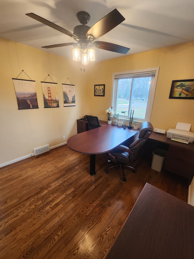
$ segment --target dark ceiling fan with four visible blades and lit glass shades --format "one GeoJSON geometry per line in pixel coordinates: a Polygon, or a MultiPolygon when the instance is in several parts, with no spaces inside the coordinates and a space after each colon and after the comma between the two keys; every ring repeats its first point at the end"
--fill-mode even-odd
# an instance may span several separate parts
{"type": "Polygon", "coordinates": [[[34,13],[27,13],[29,17],[44,23],[52,27],[59,32],[62,32],[70,37],[72,37],[77,43],[70,42],[70,43],[62,43],[62,44],[55,44],[49,46],[43,46],[42,48],[55,48],[55,47],[62,47],[62,46],[74,46],[73,48],[73,60],[79,61],[80,60],[80,49],[82,50],[82,64],[88,64],[88,61],[95,60],[95,51],[93,46],[99,49],[109,50],[112,52],[126,54],[129,51],[129,48],[116,45],[113,43],[103,42],[103,41],[94,41],[95,39],[101,37],[102,35],[106,34],[121,22],[125,20],[125,18],[120,14],[117,9],[109,12],[105,15],[102,19],[96,22],[92,27],[87,26],[86,24],[90,20],[89,13],[85,11],[81,11],[77,13],[77,18],[82,25],[75,26],[73,29],[73,33],[67,31],[66,29],[56,25],[53,22],[50,22],[34,13]],[[87,52],[88,51],[88,55],[87,52]]]}

